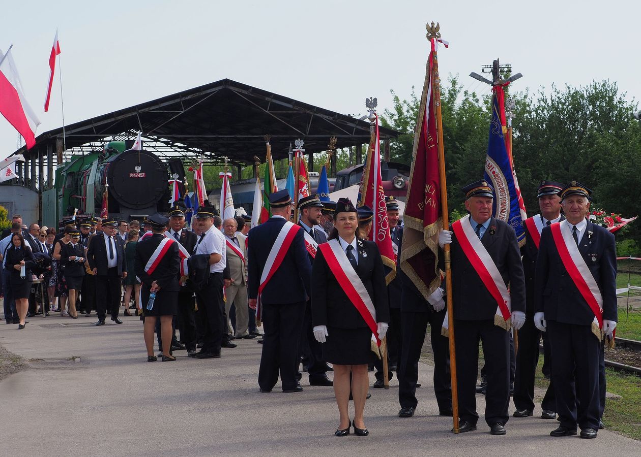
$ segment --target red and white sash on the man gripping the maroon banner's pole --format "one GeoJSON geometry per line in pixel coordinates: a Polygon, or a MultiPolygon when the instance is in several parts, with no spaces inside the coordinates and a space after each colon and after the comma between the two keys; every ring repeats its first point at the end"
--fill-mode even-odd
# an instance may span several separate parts
{"type": "Polygon", "coordinates": [[[511,299],[508,286],[505,284],[499,269],[496,267],[492,256],[487,252],[483,243],[470,223],[469,214],[452,224],[452,230],[456,234],[456,241],[461,246],[463,253],[472,264],[472,268],[479,275],[488,292],[496,300],[497,308],[494,316],[494,323],[505,330],[512,325],[511,299]]]}

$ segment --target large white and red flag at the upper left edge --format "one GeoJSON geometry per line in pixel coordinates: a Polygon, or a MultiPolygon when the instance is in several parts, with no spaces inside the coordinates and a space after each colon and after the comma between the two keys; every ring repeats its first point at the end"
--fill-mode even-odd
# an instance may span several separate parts
{"type": "Polygon", "coordinates": [[[11,54],[0,52],[0,113],[22,135],[27,149],[36,143],[36,128],[40,120],[27,103],[18,70],[11,54]]]}

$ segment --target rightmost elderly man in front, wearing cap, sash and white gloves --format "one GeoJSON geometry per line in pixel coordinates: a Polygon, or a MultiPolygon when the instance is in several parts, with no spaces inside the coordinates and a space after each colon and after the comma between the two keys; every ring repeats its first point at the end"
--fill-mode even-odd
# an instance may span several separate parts
{"type": "Polygon", "coordinates": [[[590,189],[576,181],[560,193],[566,220],[541,233],[535,275],[535,316],[547,330],[560,426],[553,437],[596,438],[601,415],[599,365],[603,341],[617,326],[614,236],[586,218],[590,189]]]}

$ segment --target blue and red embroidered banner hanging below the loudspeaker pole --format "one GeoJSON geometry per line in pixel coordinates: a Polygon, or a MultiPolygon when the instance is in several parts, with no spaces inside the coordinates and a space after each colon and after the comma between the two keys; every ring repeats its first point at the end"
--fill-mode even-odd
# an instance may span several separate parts
{"type": "Polygon", "coordinates": [[[525,243],[523,221],[527,219],[525,205],[520,197],[519,182],[508,155],[504,138],[503,86],[494,86],[492,121],[485,159],[485,179],[492,182],[495,198],[492,202],[494,217],[507,222],[517,233],[519,246],[525,243]],[[503,113],[503,120],[502,115],[503,113]]]}

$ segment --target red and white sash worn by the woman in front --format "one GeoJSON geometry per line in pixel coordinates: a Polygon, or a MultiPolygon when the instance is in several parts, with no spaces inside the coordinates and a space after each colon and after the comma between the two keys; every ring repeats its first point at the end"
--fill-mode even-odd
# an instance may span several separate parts
{"type": "Polygon", "coordinates": [[[343,289],[349,301],[352,302],[356,310],[363,316],[365,323],[370,328],[374,337],[376,338],[376,345],[381,346],[381,341],[378,339],[378,326],[376,324],[376,308],[372,298],[370,298],[365,285],[363,284],[358,273],[347,259],[347,255],[340,245],[338,239],[331,239],[327,243],[319,245],[320,252],[322,252],[325,261],[329,266],[329,270],[334,274],[338,281],[338,285],[343,289]]]}

